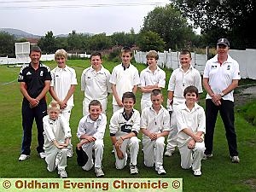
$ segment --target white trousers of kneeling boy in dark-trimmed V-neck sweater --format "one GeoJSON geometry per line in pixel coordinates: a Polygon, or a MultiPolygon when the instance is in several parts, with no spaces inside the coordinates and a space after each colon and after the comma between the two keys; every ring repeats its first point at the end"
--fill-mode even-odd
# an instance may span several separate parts
{"type": "Polygon", "coordinates": [[[130,165],[133,165],[133,166],[137,165],[137,154],[139,151],[139,143],[140,143],[140,140],[137,137],[131,137],[129,139],[124,140],[121,146],[121,151],[124,154],[123,160],[119,160],[119,157],[116,153],[116,149],[113,146],[113,151],[115,156],[115,167],[117,169],[123,169],[126,166],[126,163],[127,163],[126,148],[129,148],[130,150],[130,158],[131,158],[130,165]]]}

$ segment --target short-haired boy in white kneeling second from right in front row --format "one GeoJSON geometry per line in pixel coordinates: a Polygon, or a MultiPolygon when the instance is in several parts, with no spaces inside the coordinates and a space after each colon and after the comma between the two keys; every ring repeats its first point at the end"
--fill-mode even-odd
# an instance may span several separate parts
{"type": "Polygon", "coordinates": [[[169,112],[161,103],[163,96],[159,89],[152,90],[152,106],[144,108],[141,117],[141,131],[143,132],[144,165],[152,167],[161,175],[166,174],[163,166],[165,136],[170,131],[169,112]]]}

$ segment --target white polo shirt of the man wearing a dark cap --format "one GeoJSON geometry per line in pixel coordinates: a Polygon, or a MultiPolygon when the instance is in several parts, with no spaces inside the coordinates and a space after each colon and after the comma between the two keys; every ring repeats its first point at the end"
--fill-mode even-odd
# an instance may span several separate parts
{"type": "MultiPolygon", "coordinates": [[[[203,78],[209,79],[208,84],[213,93],[218,94],[232,84],[232,80],[241,79],[239,64],[228,55],[227,61],[224,61],[220,66],[218,55],[215,55],[212,59],[207,61],[203,78]]],[[[234,102],[233,92],[232,90],[229,94],[223,96],[223,99],[234,102]]],[[[208,94],[207,99],[211,99],[211,96],[208,94]]]]}

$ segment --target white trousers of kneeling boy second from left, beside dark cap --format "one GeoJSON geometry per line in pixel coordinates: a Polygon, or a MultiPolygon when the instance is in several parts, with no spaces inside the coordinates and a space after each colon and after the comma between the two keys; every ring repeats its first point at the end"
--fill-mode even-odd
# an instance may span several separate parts
{"type": "Polygon", "coordinates": [[[89,171],[94,165],[92,159],[92,149],[94,149],[95,155],[95,168],[102,167],[102,156],[103,156],[103,148],[104,143],[102,139],[97,139],[95,142],[85,143],[82,146],[84,152],[88,155],[87,163],[84,165],[84,170],[89,171]]]}

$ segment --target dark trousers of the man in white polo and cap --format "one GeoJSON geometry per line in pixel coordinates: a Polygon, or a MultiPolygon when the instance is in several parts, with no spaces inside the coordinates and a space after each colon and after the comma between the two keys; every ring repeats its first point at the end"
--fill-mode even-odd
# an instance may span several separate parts
{"type": "Polygon", "coordinates": [[[235,131],[235,116],[234,116],[234,102],[228,100],[221,100],[221,105],[216,106],[211,99],[206,100],[206,119],[207,119],[207,131],[205,136],[206,151],[205,154],[212,154],[213,134],[216,119],[220,113],[221,119],[224,123],[226,131],[226,138],[229,145],[230,156],[237,156],[237,143],[236,143],[236,131],[235,131]]]}

